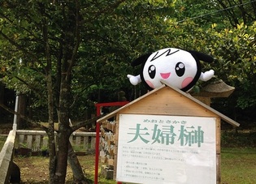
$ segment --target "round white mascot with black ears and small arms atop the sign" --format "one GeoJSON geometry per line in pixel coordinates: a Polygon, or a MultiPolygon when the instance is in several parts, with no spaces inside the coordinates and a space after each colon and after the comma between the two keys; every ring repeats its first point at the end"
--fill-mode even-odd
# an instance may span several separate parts
{"type": "Polygon", "coordinates": [[[160,49],[155,53],[142,55],[132,62],[132,66],[142,65],[141,74],[127,75],[130,83],[145,83],[152,90],[159,88],[165,81],[172,87],[184,92],[193,88],[198,79],[207,81],[215,74],[213,70],[202,72],[200,61],[213,62],[214,58],[197,51],[176,48],[160,49]]]}

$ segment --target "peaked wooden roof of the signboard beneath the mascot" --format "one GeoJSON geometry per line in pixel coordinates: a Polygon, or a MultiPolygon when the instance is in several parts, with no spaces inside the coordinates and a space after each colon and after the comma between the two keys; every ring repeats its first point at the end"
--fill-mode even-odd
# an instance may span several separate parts
{"type": "Polygon", "coordinates": [[[189,93],[172,88],[167,84],[163,84],[162,87],[156,88],[135,101],[128,103],[128,105],[124,105],[107,114],[103,118],[98,119],[98,122],[112,118],[116,113],[214,117],[221,118],[232,126],[240,125],[223,113],[219,113],[217,110],[198,101],[189,93]]]}

